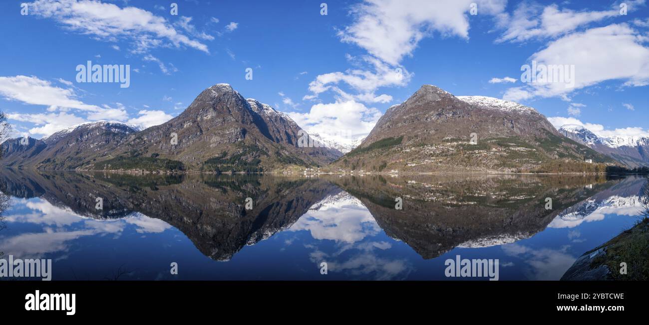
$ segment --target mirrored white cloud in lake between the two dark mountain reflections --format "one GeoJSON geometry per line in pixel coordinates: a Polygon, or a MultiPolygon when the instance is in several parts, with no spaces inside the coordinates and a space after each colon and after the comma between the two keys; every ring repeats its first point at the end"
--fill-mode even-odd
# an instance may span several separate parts
{"type": "Polygon", "coordinates": [[[336,241],[334,252],[323,252],[317,245],[305,245],[313,249],[310,260],[318,267],[321,262],[326,262],[330,273],[391,280],[406,278],[412,271],[406,259],[378,256],[378,251],[391,249],[392,244],[387,241],[367,241],[378,235],[381,228],[369,210],[346,192],[326,197],[313,205],[289,229],[299,230],[308,230],[315,240],[336,241]]]}

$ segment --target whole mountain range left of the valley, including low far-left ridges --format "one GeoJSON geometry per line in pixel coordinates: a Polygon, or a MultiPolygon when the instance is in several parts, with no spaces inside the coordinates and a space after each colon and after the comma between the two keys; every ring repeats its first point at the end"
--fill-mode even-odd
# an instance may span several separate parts
{"type": "Polygon", "coordinates": [[[260,172],[319,166],[342,155],[335,148],[302,148],[308,134],[288,115],[228,84],[201,92],[180,115],[140,130],[120,122],[74,126],[30,145],[3,144],[5,166],[48,170],[195,170],[260,172]]]}

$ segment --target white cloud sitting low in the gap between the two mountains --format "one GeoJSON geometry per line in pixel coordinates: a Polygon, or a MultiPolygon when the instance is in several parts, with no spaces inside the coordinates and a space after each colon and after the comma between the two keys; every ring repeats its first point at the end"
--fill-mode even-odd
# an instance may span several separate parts
{"type": "Polygon", "coordinates": [[[291,112],[288,115],[310,133],[363,135],[372,131],[382,114],[376,108],[350,100],[315,104],[308,113],[291,112]]]}

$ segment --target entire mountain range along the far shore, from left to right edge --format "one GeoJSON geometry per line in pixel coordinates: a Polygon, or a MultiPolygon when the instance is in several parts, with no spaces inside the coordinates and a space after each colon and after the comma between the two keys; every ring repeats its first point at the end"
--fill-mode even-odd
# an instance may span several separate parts
{"type": "Polygon", "coordinates": [[[288,115],[228,84],[204,89],[164,124],[89,122],[44,139],[8,139],[4,166],[40,170],[204,173],[601,173],[649,165],[649,139],[557,130],[532,107],[423,85],[364,139],[309,135],[288,115]],[[343,153],[343,151],[348,151],[343,153]]]}

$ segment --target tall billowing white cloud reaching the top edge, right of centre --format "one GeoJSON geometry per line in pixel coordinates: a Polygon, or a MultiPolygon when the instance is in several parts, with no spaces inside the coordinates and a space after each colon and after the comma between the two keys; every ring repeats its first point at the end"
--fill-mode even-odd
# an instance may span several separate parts
{"type": "MultiPolygon", "coordinates": [[[[338,102],[360,101],[386,103],[389,95],[375,95],[380,87],[404,86],[410,82],[401,60],[410,56],[421,39],[439,32],[443,36],[469,38],[469,10],[477,3],[480,15],[493,16],[503,12],[506,0],[365,0],[352,6],[352,24],[340,30],[341,41],[358,45],[369,55],[361,56],[362,69],[320,74],[309,84],[313,100],[324,91],[334,91],[338,102]],[[349,94],[345,84],[358,94],[349,94]]],[[[348,54],[348,58],[349,58],[348,54]]],[[[352,58],[356,60],[356,58],[352,58]]]]}

